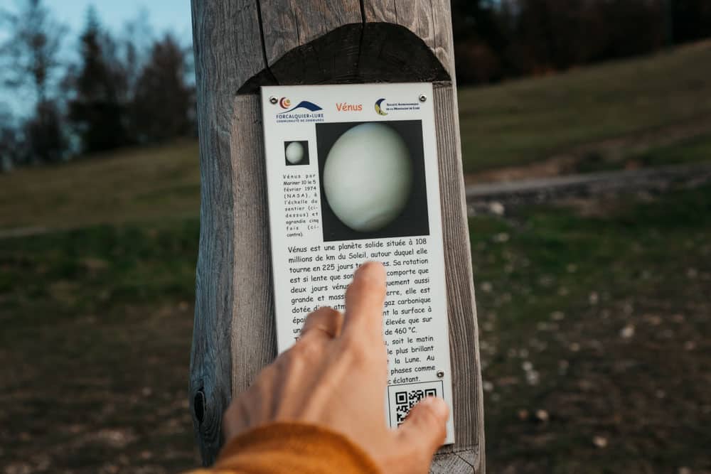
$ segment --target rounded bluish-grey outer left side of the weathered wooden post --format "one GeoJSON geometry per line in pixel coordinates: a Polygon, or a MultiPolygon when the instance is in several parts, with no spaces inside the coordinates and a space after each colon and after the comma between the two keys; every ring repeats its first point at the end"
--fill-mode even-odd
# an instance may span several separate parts
{"type": "Polygon", "coordinates": [[[265,63],[254,2],[196,0],[192,10],[201,228],[189,397],[203,462],[210,464],[220,448],[222,414],[232,397],[233,269],[240,265],[234,244],[230,98],[265,63]]]}

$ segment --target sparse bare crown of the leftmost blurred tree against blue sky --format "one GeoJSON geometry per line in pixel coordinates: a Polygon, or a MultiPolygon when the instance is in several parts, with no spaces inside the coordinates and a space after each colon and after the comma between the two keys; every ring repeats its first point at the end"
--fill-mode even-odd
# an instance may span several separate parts
{"type": "Polygon", "coordinates": [[[42,0],[26,0],[18,11],[0,12],[9,38],[0,45],[2,75],[14,88],[31,85],[37,103],[46,102],[61,63],[58,58],[66,28],[50,17],[42,0]]]}

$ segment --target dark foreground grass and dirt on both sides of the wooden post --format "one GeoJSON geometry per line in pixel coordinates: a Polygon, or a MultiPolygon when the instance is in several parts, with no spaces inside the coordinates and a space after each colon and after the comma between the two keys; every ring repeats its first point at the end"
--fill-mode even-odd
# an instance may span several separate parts
{"type": "MultiPolygon", "coordinates": [[[[597,205],[470,221],[491,472],[711,465],[711,187],[597,205]]],[[[194,218],[2,240],[6,465],[196,465],[197,246],[194,218]]]]}

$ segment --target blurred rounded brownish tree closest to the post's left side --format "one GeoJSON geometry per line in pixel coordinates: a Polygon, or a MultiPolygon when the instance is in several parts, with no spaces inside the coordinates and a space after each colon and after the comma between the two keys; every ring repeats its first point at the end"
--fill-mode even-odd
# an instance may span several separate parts
{"type": "Polygon", "coordinates": [[[139,142],[159,142],[193,131],[195,91],[186,81],[186,50],[170,34],[154,43],[136,83],[132,122],[139,142]]]}

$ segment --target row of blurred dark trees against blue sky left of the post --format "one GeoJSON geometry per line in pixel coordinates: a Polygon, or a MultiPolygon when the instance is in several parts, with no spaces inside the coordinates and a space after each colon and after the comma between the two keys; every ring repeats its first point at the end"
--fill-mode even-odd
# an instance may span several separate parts
{"type": "Polygon", "coordinates": [[[171,33],[152,38],[135,23],[114,36],[89,9],[72,63],[61,53],[67,29],[43,0],[0,13],[0,78],[34,102],[23,117],[0,108],[0,171],[194,136],[192,51],[171,33]]]}

